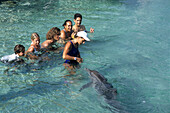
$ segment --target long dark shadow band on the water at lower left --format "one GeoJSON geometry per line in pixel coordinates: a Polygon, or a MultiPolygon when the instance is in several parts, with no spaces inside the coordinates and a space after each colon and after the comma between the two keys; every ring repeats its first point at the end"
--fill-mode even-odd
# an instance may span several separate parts
{"type": "Polygon", "coordinates": [[[25,88],[21,91],[9,91],[7,94],[0,95],[0,101],[1,102],[7,102],[11,99],[15,99],[17,97],[26,97],[28,95],[37,94],[37,95],[45,95],[47,92],[55,91],[62,89],[63,93],[65,93],[66,87],[68,83],[65,83],[64,81],[55,82],[55,83],[49,83],[44,81],[36,81],[35,84],[32,86],[29,86],[28,88],[25,88]]]}

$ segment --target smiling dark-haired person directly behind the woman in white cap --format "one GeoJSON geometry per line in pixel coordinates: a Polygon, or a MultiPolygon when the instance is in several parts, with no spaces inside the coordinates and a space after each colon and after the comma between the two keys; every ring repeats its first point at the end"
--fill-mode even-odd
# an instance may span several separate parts
{"type": "Polygon", "coordinates": [[[72,21],[71,20],[66,20],[63,24],[64,29],[61,30],[61,39],[68,41],[71,40],[71,34],[72,34],[72,21]]]}

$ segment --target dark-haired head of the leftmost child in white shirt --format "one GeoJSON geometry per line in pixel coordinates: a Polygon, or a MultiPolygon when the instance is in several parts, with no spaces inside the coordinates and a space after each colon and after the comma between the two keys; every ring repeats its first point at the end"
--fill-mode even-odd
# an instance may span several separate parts
{"type": "Polygon", "coordinates": [[[14,47],[15,54],[18,54],[19,56],[25,55],[25,47],[21,44],[18,44],[14,47]]]}

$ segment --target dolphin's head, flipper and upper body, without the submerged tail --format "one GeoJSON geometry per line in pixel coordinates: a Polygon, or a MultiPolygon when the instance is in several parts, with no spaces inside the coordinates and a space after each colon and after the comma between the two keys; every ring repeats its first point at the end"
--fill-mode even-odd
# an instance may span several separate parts
{"type": "Polygon", "coordinates": [[[112,84],[108,83],[103,75],[95,70],[87,68],[85,68],[85,70],[90,75],[91,82],[83,85],[79,91],[92,86],[100,95],[104,96],[105,99],[115,99],[117,89],[113,88],[112,84]]]}

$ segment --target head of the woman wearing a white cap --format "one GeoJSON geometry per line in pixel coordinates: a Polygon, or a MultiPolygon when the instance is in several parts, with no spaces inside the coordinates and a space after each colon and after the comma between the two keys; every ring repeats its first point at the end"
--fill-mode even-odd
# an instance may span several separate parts
{"type": "Polygon", "coordinates": [[[90,41],[90,39],[87,37],[87,33],[85,31],[79,31],[76,36],[78,44],[84,44],[85,41],[90,41]]]}

